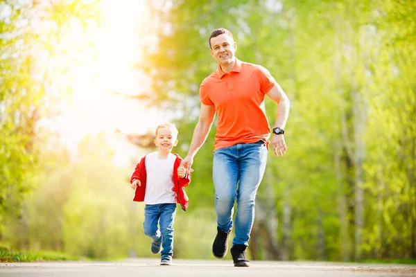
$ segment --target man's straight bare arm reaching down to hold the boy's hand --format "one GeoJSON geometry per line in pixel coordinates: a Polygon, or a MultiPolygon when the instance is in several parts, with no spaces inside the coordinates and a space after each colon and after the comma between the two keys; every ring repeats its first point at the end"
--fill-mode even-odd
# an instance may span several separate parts
{"type": "Polygon", "coordinates": [[[214,105],[204,105],[201,103],[200,117],[195,129],[193,130],[193,136],[191,146],[189,147],[187,157],[182,161],[181,166],[185,166],[187,171],[191,171],[191,165],[193,163],[193,157],[196,152],[207,140],[209,130],[211,129],[212,123],[214,123],[215,107],[214,105]]]}

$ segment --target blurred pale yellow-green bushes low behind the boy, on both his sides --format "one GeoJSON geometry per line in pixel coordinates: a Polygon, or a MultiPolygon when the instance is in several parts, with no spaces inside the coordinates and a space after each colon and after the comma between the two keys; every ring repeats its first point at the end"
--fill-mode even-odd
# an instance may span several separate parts
{"type": "MultiPolygon", "coordinates": [[[[59,148],[62,145],[55,145],[57,152],[59,148]]],[[[21,218],[7,217],[4,240],[13,249],[48,249],[94,260],[154,257],[143,231],[144,204],[132,202],[126,177],[134,166],[115,167],[113,154],[104,134],[82,141],[76,160],[61,152],[40,176],[42,184],[26,202],[21,218]]],[[[177,208],[175,258],[211,256],[213,210],[197,210],[197,197],[192,205],[187,213],[177,208]]]]}

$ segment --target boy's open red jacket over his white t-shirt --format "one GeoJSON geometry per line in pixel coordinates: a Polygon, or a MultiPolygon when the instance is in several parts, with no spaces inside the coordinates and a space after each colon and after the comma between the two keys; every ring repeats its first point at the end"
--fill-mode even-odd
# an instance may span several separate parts
{"type": "MultiPolygon", "coordinates": [[[[182,210],[187,211],[189,198],[187,193],[185,193],[185,187],[189,185],[191,181],[191,175],[187,173],[184,178],[177,176],[177,168],[179,168],[182,158],[179,155],[175,154],[176,159],[173,164],[173,191],[175,192],[176,202],[180,204],[182,210]]],[[[141,185],[137,186],[135,198],[133,201],[144,202],[144,195],[146,193],[146,156],[141,158],[140,162],[137,163],[135,172],[133,172],[132,177],[130,178],[130,184],[134,179],[140,181],[141,185]]]]}

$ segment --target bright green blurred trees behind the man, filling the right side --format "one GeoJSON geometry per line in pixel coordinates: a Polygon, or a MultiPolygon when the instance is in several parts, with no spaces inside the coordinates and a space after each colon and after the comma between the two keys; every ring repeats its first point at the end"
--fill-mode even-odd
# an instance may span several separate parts
{"type": "MultiPolygon", "coordinates": [[[[147,68],[155,105],[184,111],[181,154],[198,118],[199,84],[216,68],[207,44],[214,28],[231,30],[237,57],[269,69],[291,99],[288,153],[270,154],[272,178],[258,194],[266,202],[273,193],[281,256],[415,257],[413,1],[173,1],[168,12],[159,8],[160,41],[157,51],[148,48],[147,68]]],[[[269,122],[275,109],[266,99],[269,122]]],[[[193,165],[196,208],[214,201],[215,127],[193,165]]]]}

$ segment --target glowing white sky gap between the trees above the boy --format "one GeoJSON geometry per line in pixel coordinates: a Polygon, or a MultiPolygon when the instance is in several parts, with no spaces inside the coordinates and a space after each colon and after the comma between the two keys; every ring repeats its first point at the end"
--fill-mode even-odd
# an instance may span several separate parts
{"type": "Polygon", "coordinates": [[[162,111],[146,109],[139,101],[112,93],[150,91],[146,77],[134,69],[142,60],[141,45],[155,39],[148,28],[150,15],[144,1],[102,0],[101,16],[101,26],[87,26],[91,44],[86,44],[85,34],[74,24],[57,46],[69,48],[70,55],[65,62],[53,59],[48,65],[71,63],[71,78],[57,76],[54,86],[72,89],[72,101],[62,101],[62,114],[48,125],[72,150],[87,134],[116,128],[126,133],[153,132],[155,125],[169,119],[162,111]]]}

